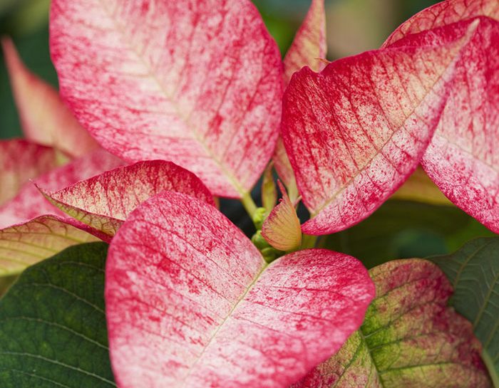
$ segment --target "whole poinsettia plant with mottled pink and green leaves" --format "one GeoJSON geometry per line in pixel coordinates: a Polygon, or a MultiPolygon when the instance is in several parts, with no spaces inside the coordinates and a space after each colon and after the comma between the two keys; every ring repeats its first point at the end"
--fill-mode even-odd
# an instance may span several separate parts
{"type": "Polygon", "coordinates": [[[419,165],[499,232],[496,0],[331,63],[322,0],[284,61],[249,0],[52,0],[50,33],[59,93],[3,42],[0,263],[38,263],[0,301],[3,386],[499,386],[497,238],[368,271],[321,237],[419,165]]]}

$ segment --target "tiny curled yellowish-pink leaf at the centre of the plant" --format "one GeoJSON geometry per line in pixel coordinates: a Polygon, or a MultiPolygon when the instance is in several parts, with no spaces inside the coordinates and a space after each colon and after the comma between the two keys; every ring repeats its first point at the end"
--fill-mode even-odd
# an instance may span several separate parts
{"type": "Polygon", "coordinates": [[[294,251],[302,245],[302,227],[286,189],[280,181],[278,183],[282,199],[265,219],[262,236],[279,251],[294,251]]]}

